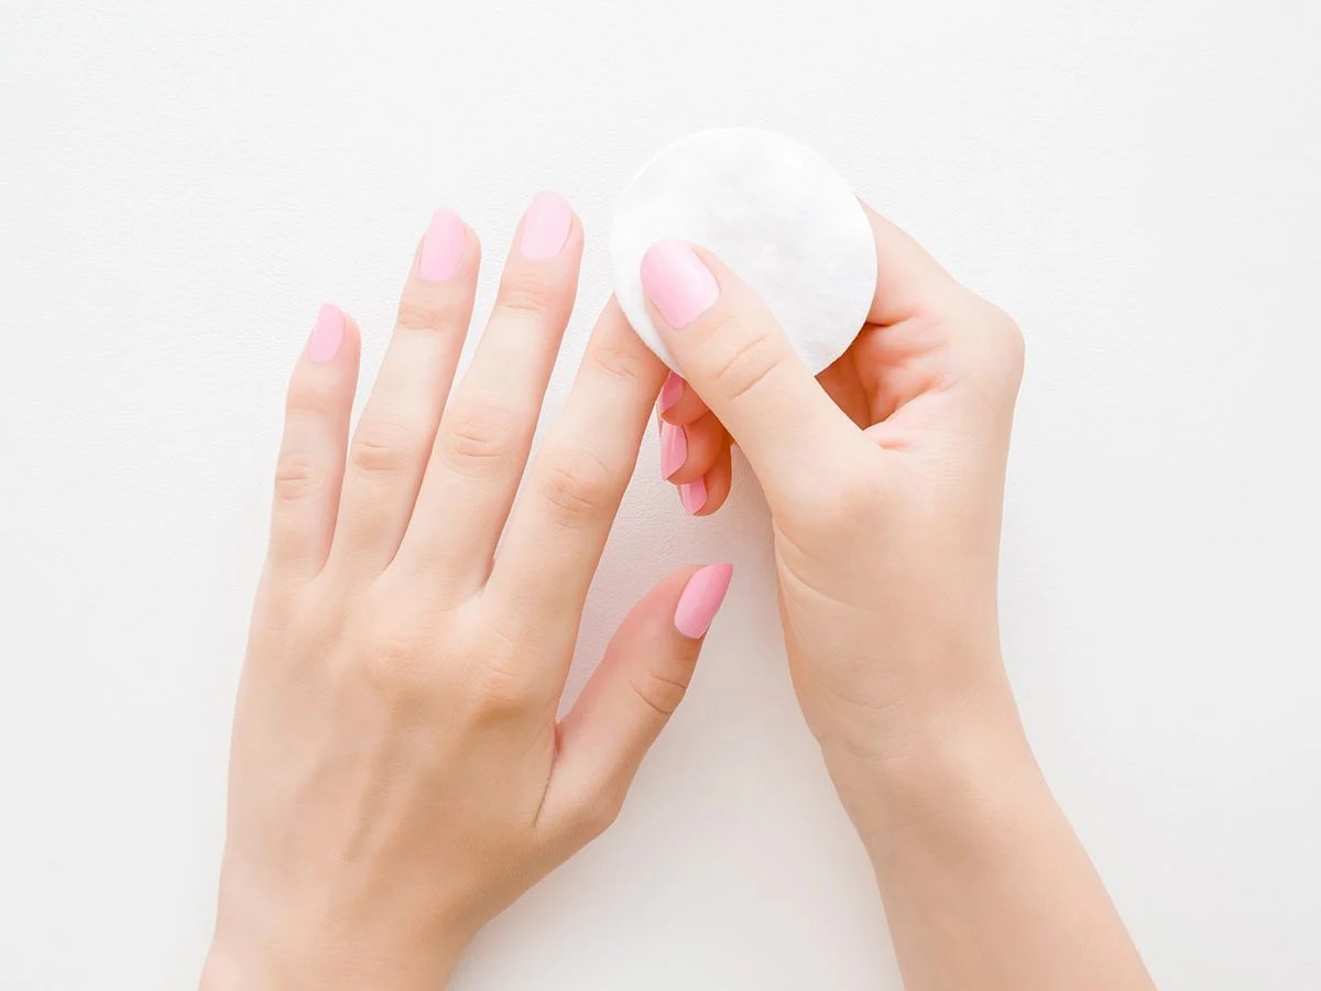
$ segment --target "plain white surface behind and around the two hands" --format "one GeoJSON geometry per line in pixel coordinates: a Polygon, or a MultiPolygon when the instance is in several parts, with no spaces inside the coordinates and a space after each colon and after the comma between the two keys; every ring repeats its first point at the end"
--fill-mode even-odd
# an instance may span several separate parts
{"type": "MultiPolygon", "coordinates": [[[[1024,326],[1008,663],[1159,983],[1321,987],[1318,46],[1304,0],[0,0],[0,988],[196,980],[317,304],[357,314],[370,375],[435,206],[499,259],[557,189],[588,254],[555,408],[616,193],[738,123],[818,148],[1024,326]]],[[[649,441],[573,684],[659,575],[723,559],[624,817],[454,987],[898,987],[746,474],[690,521],[649,441]]]]}

